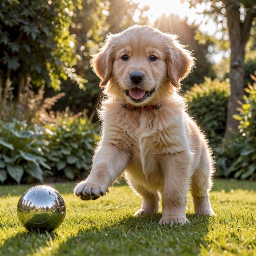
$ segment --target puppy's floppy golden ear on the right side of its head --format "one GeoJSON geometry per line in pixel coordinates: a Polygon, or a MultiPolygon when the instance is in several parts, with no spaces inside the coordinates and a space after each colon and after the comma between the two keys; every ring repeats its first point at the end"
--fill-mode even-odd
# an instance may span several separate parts
{"type": "Polygon", "coordinates": [[[175,35],[168,34],[169,45],[166,47],[167,72],[171,84],[180,88],[180,81],[184,79],[195,65],[195,58],[191,56],[191,52],[184,49],[177,41],[175,35]]]}

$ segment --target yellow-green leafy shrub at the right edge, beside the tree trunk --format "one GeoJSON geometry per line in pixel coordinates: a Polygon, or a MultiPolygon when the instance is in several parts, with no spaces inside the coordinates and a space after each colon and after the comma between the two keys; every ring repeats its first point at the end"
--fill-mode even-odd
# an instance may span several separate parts
{"type": "Polygon", "coordinates": [[[251,78],[254,85],[248,83],[240,113],[233,116],[239,120],[239,133],[220,148],[216,165],[226,177],[256,180],[256,77],[251,78]]]}

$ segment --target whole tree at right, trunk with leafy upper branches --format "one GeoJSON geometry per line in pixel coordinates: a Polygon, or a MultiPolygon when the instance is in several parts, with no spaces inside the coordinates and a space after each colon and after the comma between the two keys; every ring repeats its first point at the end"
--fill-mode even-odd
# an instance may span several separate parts
{"type": "Polygon", "coordinates": [[[254,0],[189,0],[191,7],[204,4],[204,14],[221,24],[222,31],[228,30],[231,61],[231,95],[227,110],[225,138],[230,139],[237,130],[238,121],[232,116],[238,111],[238,101],[243,100],[245,76],[245,45],[250,36],[250,29],[255,26],[256,2],[254,0]]]}

